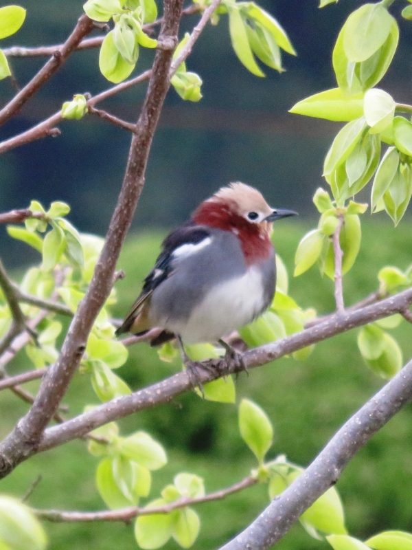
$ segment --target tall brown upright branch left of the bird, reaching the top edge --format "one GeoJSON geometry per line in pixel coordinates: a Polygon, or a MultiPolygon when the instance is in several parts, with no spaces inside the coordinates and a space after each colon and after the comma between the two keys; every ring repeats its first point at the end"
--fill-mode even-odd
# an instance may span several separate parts
{"type": "MultiPolygon", "coordinates": [[[[159,39],[177,43],[183,0],[165,0],[159,39]]],[[[80,18],[82,19],[82,18],[80,18]]],[[[36,401],[14,430],[0,443],[0,476],[10,473],[35,452],[50,419],[56,412],[84,353],[87,337],[111,292],[113,274],[122,243],[144,186],[150,145],[170,86],[171,50],[157,50],[146,99],[137,121],[119,199],[89,289],[80,302],[56,363],[49,367],[36,401]]]]}

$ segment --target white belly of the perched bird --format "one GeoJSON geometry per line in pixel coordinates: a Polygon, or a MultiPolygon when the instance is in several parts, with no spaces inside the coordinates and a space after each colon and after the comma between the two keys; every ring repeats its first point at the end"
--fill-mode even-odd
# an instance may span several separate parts
{"type": "Polygon", "coordinates": [[[216,342],[247,325],[263,307],[262,274],[251,267],[243,276],[214,287],[187,322],[169,320],[165,328],[180,334],[187,344],[216,342]]]}

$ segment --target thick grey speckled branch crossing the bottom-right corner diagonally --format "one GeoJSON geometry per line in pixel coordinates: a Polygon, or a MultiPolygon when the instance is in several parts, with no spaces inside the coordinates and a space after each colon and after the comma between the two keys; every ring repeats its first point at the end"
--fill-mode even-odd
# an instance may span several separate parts
{"type": "Polygon", "coordinates": [[[312,464],[262,514],[222,550],[266,550],[321,494],[371,437],[412,399],[412,361],[367,401],[330,440],[312,464]]]}

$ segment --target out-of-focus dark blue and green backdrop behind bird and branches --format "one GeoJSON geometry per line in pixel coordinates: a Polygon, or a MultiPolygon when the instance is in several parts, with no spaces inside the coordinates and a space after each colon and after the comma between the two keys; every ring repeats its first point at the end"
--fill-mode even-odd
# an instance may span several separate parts
{"type": "MultiPolygon", "coordinates": [[[[1,2],[0,5],[5,5],[1,2]]],[[[81,0],[21,1],[27,8],[22,30],[8,45],[47,45],[65,39],[81,13],[81,0]]],[[[196,44],[188,68],[204,80],[204,98],[198,104],[183,102],[174,91],[168,95],[153,143],[146,186],[135,216],[134,232],[122,253],[119,267],[127,273],[119,282],[123,316],[134,300],[141,279],[159,252],[165,229],[180,223],[196,204],[222,184],[242,180],[264,192],[273,206],[299,210],[299,221],[275,225],[277,250],[293,271],[293,255],[301,236],[314,225],[311,202],[322,183],[325,152],[337,124],[288,115],[301,98],[334,87],[330,56],[334,39],[347,14],[360,5],[345,0],[323,10],[315,0],[264,0],[264,8],[279,19],[295,45],[298,56],[284,56],[285,74],[266,71],[266,78],[249,74],[231,51],[227,20],[209,26],[196,44]]],[[[403,5],[394,5],[393,13],[403,5]]],[[[398,17],[397,17],[398,19],[398,17]]],[[[182,23],[190,29],[196,17],[182,23]]],[[[398,102],[410,102],[411,25],[399,19],[398,53],[382,87],[398,102]]],[[[148,67],[151,53],[142,55],[138,70],[148,67]]],[[[74,54],[14,120],[0,129],[0,139],[10,137],[57,111],[75,93],[92,94],[108,87],[97,67],[98,52],[74,54]]],[[[41,66],[43,59],[15,59],[12,67],[20,84],[41,66]]],[[[131,89],[102,104],[127,120],[135,120],[145,87],[131,89]]],[[[0,82],[0,103],[11,97],[10,80],[0,82]]],[[[69,219],[82,232],[104,234],[122,182],[130,136],[122,129],[87,117],[65,121],[62,135],[14,149],[0,159],[0,212],[22,208],[30,199],[45,206],[60,199],[71,204],[69,219]]],[[[367,200],[367,197],[365,197],[367,200]]],[[[350,303],[376,290],[376,274],[382,265],[404,269],[411,263],[411,230],[408,216],[397,230],[378,214],[363,216],[364,239],[354,269],[345,277],[350,303]]],[[[25,245],[11,241],[0,227],[0,256],[7,267],[19,270],[38,261],[25,245]]],[[[332,283],[312,269],[290,281],[290,294],[302,307],[316,307],[320,314],[333,309],[332,283]]],[[[411,355],[410,327],[403,323],[399,338],[404,358],[411,355]]],[[[279,360],[242,375],[238,401],[249,397],[262,406],[275,426],[275,444],[269,453],[286,453],[288,459],[307,465],[337,428],[382,385],[364,365],[356,349],[356,331],[318,344],[306,362],[279,360]]],[[[179,369],[166,364],[145,344],[130,351],[120,374],[133,388],[161,380],[179,369]]],[[[10,365],[21,371],[24,353],[10,365]]],[[[119,371],[118,371],[119,372],[119,371]]],[[[27,385],[36,391],[37,383],[27,385]]],[[[69,415],[95,403],[87,375],[76,375],[65,399],[69,415]]],[[[8,433],[26,407],[11,393],[0,400],[0,436],[8,433]]],[[[253,456],[242,443],[237,425],[237,406],[202,401],[193,393],[171,404],[121,422],[125,434],[145,429],[168,449],[168,465],[155,472],[152,496],[170,483],[174,474],[187,471],[205,478],[207,492],[226,487],[247,476],[255,467],[253,456]]],[[[343,498],[350,533],[360,538],[382,529],[412,531],[412,430],[407,407],[385,427],[343,473],[337,487],[343,498]]],[[[93,476],[98,460],[85,444],[74,441],[35,456],[0,482],[0,492],[22,496],[38,474],[43,481],[30,497],[36,507],[103,509],[93,476]]],[[[197,507],[201,534],[196,548],[211,549],[247,525],[268,503],[265,487],[252,487],[220,503],[197,507]]],[[[47,524],[50,548],[108,550],[137,547],[131,526],[108,524],[47,524]]],[[[311,539],[299,525],[279,542],[282,550],[328,548],[311,539]]],[[[168,549],[177,548],[174,542],[168,549]]]]}

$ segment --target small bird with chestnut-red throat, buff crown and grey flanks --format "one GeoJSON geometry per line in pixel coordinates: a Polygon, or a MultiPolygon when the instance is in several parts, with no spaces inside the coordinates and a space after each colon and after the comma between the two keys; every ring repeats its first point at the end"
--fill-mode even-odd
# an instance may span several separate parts
{"type": "Polygon", "coordinates": [[[294,214],[271,208],[246,184],[222,187],[163,241],[117,335],[159,327],[163,331],[151,344],[176,337],[187,366],[183,342],[220,342],[225,358],[234,360],[236,352],[221,339],[271,305],[276,282],[272,222],[294,214]]]}

